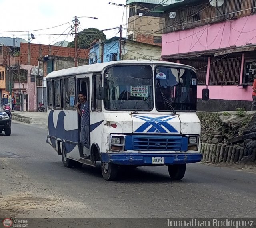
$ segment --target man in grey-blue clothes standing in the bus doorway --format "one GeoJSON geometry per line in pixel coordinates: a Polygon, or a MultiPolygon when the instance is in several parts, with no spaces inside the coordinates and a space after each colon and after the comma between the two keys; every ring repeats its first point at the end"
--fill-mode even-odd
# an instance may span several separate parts
{"type": "Polygon", "coordinates": [[[79,102],[76,104],[77,112],[81,116],[80,143],[86,147],[85,157],[90,155],[90,119],[89,119],[89,102],[86,100],[84,92],[78,93],[79,102]]]}

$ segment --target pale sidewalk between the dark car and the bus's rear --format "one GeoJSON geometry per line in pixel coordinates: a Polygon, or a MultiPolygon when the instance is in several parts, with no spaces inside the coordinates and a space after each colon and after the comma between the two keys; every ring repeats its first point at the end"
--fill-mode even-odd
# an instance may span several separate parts
{"type": "Polygon", "coordinates": [[[12,120],[47,128],[47,112],[12,112],[12,120]]]}

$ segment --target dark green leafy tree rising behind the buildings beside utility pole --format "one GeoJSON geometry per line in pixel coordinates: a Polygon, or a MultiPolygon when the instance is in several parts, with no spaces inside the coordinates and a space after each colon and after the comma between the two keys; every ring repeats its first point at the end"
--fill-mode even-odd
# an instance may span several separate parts
{"type": "MultiPolygon", "coordinates": [[[[88,49],[95,39],[102,39],[104,41],[106,40],[106,35],[96,28],[84,29],[77,35],[77,47],[88,49]]],[[[68,47],[75,47],[75,39],[68,44],[68,47]]]]}

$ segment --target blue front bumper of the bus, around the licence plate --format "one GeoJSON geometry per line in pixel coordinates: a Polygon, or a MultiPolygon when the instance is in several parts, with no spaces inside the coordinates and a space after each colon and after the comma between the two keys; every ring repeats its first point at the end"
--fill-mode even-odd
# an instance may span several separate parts
{"type": "Polygon", "coordinates": [[[117,165],[173,165],[200,162],[201,153],[102,153],[102,162],[117,165]],[[152,157],[163,157],[164,164],[152,164],[152,157]]]}

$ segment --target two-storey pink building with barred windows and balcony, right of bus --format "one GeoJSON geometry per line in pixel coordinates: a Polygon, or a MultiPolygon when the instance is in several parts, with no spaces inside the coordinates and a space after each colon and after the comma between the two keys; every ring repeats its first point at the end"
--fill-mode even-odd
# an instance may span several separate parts
{"type": "Polygon", "coordinates": [[[211,2],[184,0],[165,8],[162,59],[192,65],[201,83],[209,85],[207,102],[200,100],[205,86],[198,86],[198,110],[250,110],[256,0],[218,0],[218,7],[211,2]]]}

